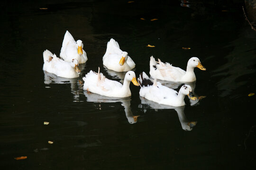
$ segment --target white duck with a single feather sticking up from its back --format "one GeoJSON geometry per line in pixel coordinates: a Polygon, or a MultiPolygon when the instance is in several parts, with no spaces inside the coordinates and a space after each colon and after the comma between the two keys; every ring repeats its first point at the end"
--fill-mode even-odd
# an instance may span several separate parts
{"type": "Polygon", "coordinates": [[[118,81],[109,80],[102,73],[100,73],[100,68],[98,73],[92,70],[82,78],[84,81],[83,88],[91,93],[97,93],[109,97],[128,97],[131,96],[131,91],[129,88],[130,82],[134,85],[139,85],[135,73],[133,71],[128,71],[124,78],[123,85],[118,81]]]}

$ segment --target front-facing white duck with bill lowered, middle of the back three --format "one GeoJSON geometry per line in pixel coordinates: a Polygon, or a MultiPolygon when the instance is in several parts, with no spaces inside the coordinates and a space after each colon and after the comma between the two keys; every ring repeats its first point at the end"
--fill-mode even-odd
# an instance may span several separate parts
{"type": "Polygon", "coordinates": [[[135,68],[134,61],[128,56],[127,52],[120,50],[118,42],[113,38],[108,42],[102,60],[104,66],[117,72],[129,71],[135,68]]]}

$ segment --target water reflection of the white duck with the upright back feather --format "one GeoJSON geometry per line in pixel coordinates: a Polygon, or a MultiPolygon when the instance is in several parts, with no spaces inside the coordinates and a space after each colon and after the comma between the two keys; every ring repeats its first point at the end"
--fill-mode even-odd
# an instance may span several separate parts
{"type": "Polygon", "coordinates": [[[90,93],[87,91],[83,92],[84,95],[87,97],[87,102],[121,102],[121,105],[125,109],[125,115],[130,124],[137,123],[137,119],[139,115],[133,115],[131,111],[131,97],[125,97],[125,98],[116,98],[116,97],[107,97],[96,93],[90,93]]]}

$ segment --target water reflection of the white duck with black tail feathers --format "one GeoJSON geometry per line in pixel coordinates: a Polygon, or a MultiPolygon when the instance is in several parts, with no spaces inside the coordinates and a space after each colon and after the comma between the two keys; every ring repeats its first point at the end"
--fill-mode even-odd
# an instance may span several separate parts
{"type": "Polygon", "coordinates": [[[183,130],[191,131],[193,129],[193,127],[195,127],[197,124],[197,121],[189,121],[186,118],[185,113],[184,113],[185,106],[173,107],[173,106],[168,106],[168,105],[164,105],[164,104],[158,104],[157,102],[147,100],[144,97],[140,97],[140,100],[141,100],[141,104],[138,105],[138,108],[143,109],[144,112],[146,112],[147,109],[155,109],[156,111],[158,109],[160,109],[160,110],[174,109],[178,114],[178,117],[179,117],[179,120],[180,120],[183,130]]]}

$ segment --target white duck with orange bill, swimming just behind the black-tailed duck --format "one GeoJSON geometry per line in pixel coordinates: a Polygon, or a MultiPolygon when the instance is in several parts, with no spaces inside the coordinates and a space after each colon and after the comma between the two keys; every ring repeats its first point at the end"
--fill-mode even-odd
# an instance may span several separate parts
{"type": "Polygon", "coordinates": [[[184,71],[181,68],[174,67],[170,63],[163,63],[160,59],[155,61],[153,56],[150,57],[150,76],[159,80],[173,81],[173,82],[193,82],[196,81],[194,68],[200,68],[206,70],[201,65],[200,60],[197,57],[192,57],[188,60],[187,70],[184,71]]]}

